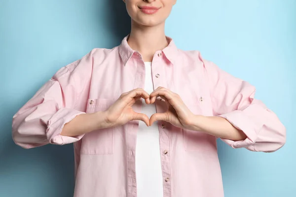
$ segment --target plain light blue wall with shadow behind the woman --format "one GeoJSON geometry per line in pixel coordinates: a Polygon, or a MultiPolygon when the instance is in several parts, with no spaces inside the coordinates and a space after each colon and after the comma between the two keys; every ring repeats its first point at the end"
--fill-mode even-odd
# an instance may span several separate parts
{"type": "MultiPolygon", "coordinates": [[[[255,85],[287,128],[275,153],[219,140],[225,197],[296,196],[295,10],[296,0],[178,0],[167,20],[179,48],[255,85]]],[[[73,196],[73,145],[22,149],[12,116],[60,67],[129,30],[121,0],[0,0],[0,197],[73,196]]]]}

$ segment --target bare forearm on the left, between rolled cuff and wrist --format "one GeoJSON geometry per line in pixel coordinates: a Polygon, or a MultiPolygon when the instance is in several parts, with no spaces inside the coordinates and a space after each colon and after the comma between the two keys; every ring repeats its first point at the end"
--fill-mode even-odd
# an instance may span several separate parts
{"type": "Polygon", "coordinates": [[[61,135],[77,136],[105,127],[107,125],[104,111],[80,114],[64,125],[61,135]]]}

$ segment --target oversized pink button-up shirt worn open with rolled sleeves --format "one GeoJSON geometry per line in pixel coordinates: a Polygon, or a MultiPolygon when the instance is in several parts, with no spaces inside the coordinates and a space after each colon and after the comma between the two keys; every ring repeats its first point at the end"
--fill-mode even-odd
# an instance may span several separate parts
{"type": "MultiPolygon", "coordinates": [[[[232,148],[273,152],[286,141],[276,114],[254,99],[255,87],[170,44],[152,61],[154,89],[179,94],[195,114],[221,116],[248,136],[222,139],[232,148]]],[[[76,137],[60,135],[81,113],[106,110],[119,96],[145,85],[145,65],[127,37],[113,49],[93,49],[58,70],[14,116],[12,136],[23,148],[74,142],[74,197],[137,197],[135,148],[139,121],[76,137]]],[[[141,112],[140,104],[133,105],[141,112]]],[[[164,112],[164,102],[156,102],[164,112]]],[[[223,197],[217,137],[158,121],[164,197],[223,197]]]]}

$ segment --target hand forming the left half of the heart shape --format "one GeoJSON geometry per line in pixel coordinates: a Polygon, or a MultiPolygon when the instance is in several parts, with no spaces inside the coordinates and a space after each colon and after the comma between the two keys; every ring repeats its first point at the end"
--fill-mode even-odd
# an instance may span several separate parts
{"type": "Polygon", "coordinates": [[[106,123],[109,127],[124,125],[132,120],[140,120],[149,126],[149,118],[146,114],[136,113],[132,105],[139,99],[145,99],[146,104],[150,103],[149,94],[142,88],[137,88],[123,93],[120,97],[105,111],[106,123]]]}

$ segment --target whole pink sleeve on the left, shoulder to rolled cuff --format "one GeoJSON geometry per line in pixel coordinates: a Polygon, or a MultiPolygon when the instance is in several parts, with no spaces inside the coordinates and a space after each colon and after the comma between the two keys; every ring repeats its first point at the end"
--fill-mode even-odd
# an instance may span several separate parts
{"type": "Polygon", "coordinates": [[[87,98],[80,95],[87,95],[82,91],[89,90],[83,85],[89,84],[89,79],[85,79],[89,77],[85,74],[89,59],[85,56],[60,68],[13,116],[12,138],[17,145],[27,149],[49,143],[64,145],[83,137],[83,134],[64,136],[61,132],[66,123],[85,113],[83,106],[86,106],[87,98]],[[81,80],[73,76],[73,73],[79,73],[79,69],[83,69],[81,73],[84,74],[80,76],[81,80]]]}

